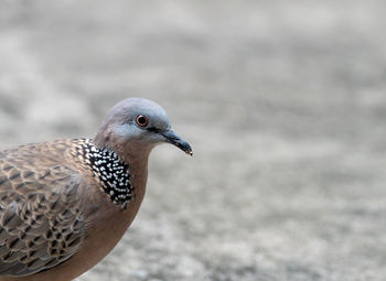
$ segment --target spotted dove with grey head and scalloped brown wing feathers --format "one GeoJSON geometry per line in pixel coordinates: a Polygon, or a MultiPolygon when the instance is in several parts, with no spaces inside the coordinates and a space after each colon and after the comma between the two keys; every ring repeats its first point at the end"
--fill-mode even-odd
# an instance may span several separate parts
{"type": "Polygon", "coordinates": [[[67,281],[97,264],[136,217],[160,143],[193,155],[161,106],[127,98],[94,138],[0,151],[0,281],[67,281]]]}

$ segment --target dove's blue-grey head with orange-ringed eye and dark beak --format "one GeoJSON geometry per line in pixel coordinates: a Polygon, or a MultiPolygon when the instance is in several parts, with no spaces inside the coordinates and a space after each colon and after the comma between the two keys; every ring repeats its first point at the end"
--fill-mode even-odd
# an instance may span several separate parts
{"type": "Polygon", "coordinates": [[[162,107],[146,98],[128,98],[114,106],[94,142],[115,150],[124,160],[148,154],[160,143],[171,143],[192,155],[190,144],[173,131],[162,107]]]}

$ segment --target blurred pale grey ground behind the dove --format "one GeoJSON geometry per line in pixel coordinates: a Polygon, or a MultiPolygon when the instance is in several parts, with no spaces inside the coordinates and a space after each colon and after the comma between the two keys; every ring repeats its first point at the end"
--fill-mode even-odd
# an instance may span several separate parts
{"type": "Polygon", "coordinates": [[[386,279],[386,2],[2,0],[0,149],[93,137],[132,96],[142,208],[78,281],[386,279]]]}

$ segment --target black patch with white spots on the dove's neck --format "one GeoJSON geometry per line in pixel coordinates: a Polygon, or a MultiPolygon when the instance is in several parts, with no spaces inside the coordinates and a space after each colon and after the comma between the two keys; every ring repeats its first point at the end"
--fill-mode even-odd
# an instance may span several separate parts
{"type": "Polygon", "coordinates": [[[101,190],[114,204],[126,206],[132,199],[129,165],[120,161],[116,152],[95,147],[90,139],[82,139],[78,143],[78,155],[89,164],[101,190]]]}

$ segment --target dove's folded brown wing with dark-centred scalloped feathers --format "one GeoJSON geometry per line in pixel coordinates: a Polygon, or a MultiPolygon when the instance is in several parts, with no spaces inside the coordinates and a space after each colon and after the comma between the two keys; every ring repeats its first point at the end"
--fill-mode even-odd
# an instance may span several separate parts
{"type": "Polygon", "coordinates": [[[0,275],[55,267],[85,237],[78,173],[52,155],[39,160],[42,151],[25,151],[0,152],[0,275]]]}

